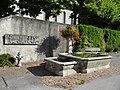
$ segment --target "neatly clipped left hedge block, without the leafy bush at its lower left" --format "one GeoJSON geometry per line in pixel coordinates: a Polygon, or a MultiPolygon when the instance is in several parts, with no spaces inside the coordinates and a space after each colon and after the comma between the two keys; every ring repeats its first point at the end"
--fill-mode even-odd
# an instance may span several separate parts
{"type": "Polygon", "coordinates": [[[87,37],[86,43],[89,47],[100,47],[102,51],[105,50],[105,43],[103,39],[103,30],[100,28],[89,26],[89,25],[80,25],[79,30],[82,36],[87,37]]]}

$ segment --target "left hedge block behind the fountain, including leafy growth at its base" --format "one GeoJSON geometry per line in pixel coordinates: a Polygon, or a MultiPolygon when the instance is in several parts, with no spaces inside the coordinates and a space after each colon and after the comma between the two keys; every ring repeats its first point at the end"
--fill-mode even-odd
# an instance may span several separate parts
{"type": "Polygon", "coordinates": [[[80,39],[76,42],[76,45],[79,43],[80,51],[84,51],[87,47],[100,47],[102,51],[105,50],[102,29],[91,25],[79,25],[77,28],[80,31],[80,39]]]}

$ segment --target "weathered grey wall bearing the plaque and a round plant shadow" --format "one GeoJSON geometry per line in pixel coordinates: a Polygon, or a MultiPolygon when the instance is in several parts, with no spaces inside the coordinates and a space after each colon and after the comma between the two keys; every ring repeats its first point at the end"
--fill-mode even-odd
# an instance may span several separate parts
{"type": "Polygon", "coordinates": [[[21,62],[24,63],[57,56],[59,52],[66,51],[66,40],[60,35],[64,27],[63,24],[25,17],[1,18],[0,54],[10,53],[16,57],[20,52],[23,55],[21,62]],[[33,42],[35,37],[39,42],[33,42]]]}

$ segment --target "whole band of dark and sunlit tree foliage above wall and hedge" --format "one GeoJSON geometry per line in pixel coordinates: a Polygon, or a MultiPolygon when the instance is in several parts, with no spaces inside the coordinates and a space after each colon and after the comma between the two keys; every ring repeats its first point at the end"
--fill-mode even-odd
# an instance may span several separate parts
{"type": "Polygon", "coordinates": [[[62,9],[73,11],[74,24],[93,25],[100,28],[120,29],[119,0],[19,0],[19,13],[36,17],[45,12],[45,20],[56,17],[62,9]]]}

